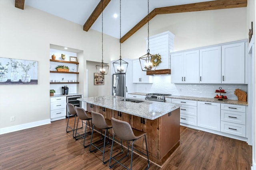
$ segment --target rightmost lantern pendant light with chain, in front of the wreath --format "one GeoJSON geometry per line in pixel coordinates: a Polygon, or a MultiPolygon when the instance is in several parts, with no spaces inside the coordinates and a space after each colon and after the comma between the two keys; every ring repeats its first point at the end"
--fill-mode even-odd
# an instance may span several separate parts
{"type": "Polygon", "coordinates": [[[149,53],[149,0],[148,0],[148,53],[139,58],[142,71],[154,71],[156,67],[153,65],[153,61],[156,60],[154,55],[149,53]]]}

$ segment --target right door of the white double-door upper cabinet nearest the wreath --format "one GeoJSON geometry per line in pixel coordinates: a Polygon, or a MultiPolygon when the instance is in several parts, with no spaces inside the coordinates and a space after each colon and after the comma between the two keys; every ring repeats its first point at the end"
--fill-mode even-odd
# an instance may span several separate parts
{"type": "Polygon", "coordinates": [[[199,83],[199,50],[184,52],[184,83],[199,83]]]}

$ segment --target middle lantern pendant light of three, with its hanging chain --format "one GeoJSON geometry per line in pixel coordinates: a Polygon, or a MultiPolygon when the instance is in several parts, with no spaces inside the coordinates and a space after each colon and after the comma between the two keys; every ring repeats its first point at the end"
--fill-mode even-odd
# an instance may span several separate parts
{"type": "MultiPolygon", "coordinates": [[[[120,0],[120,39],[121,39],[121,0],[120,0]]],[[[120,43],[120,59],[115,61],[113,63],[114,66],[114,71],[117,74],[125,74],[127,67],[128,67],[128,63],[124,60],[122,60],[122,56],[121,56],[121,43],[120,43]]]]}

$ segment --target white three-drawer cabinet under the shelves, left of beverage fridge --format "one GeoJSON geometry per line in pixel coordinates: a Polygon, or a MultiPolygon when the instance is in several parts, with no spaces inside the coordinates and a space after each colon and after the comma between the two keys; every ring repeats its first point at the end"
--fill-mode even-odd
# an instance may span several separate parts
{"type": "Polygon", "coordinates": [[[66,118],[66,96],[50,98],[51,121],[66,118]]]}

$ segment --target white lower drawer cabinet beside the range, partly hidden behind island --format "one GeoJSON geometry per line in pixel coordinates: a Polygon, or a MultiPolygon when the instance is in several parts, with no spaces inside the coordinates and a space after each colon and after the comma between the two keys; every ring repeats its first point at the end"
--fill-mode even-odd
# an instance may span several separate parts
{"type": "Polygon", "coordinates": [[[172,99],[172,104],[180,104],[180,123],[197,125],[197,102],[194,100],[172,99]]]}

